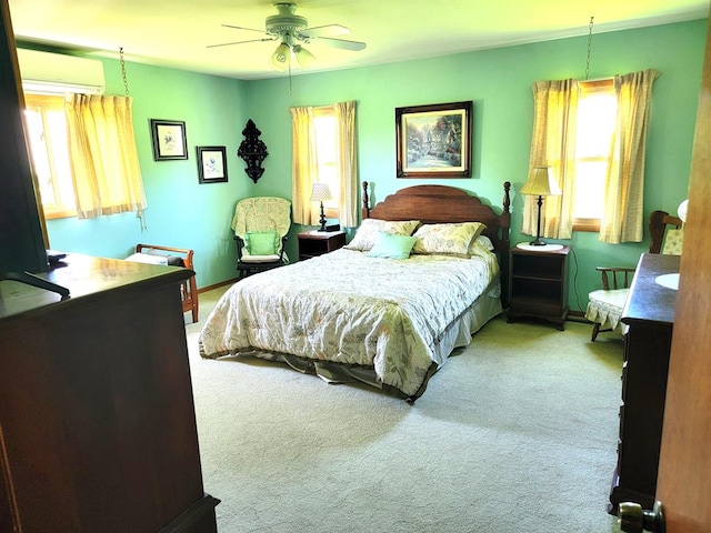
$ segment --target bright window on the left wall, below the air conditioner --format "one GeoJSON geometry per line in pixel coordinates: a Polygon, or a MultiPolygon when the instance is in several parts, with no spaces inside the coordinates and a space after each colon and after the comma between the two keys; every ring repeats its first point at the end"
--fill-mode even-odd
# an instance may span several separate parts
{"type": "Polygon", "coordinates": [[[77,214],[63,97],[26,94],[30,155],[47,219],[77,214]]]}

